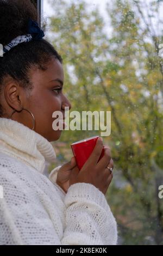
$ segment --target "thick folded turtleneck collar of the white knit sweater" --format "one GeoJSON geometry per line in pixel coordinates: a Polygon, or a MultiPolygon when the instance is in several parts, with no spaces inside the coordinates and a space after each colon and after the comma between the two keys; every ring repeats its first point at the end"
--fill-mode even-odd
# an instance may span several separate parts
{"type": "Polygon", "coordinates": [[[8,154],[43,173],[47,162],[56,159],[50,142],[17,121],[0,118],[0,152],[8,154]]]}

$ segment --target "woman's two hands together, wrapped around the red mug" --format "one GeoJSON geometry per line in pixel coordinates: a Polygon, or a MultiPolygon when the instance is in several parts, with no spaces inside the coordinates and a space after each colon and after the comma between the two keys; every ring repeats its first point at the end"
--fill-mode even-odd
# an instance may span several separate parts
{"type": "Polygon", "coordinates": [[[110,148],[107,145],[104,145],[104,156],[97,162],[102,149],[103,142],[98,139],[95,149],[93,149],[81,170],[79,170],[74,157],[58,170],[56,182],[62,190],[67,193],[72,184],[85,182],[96,186],[103,194],[106,193],[112,180],[112,172],[106,167],[113,168],[114,162],[111,158],[110,148]]]}

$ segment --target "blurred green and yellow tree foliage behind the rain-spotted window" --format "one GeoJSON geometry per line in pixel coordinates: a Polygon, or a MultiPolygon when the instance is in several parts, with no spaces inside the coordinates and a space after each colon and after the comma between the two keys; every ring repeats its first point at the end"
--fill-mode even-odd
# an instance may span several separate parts
{"type": "MultiPolygon", "coordinates": [[[[163,59],[161,1],[108,1],[110,25],[98,7],[50,1],[53,45],[64,59],[64,93],[71,111],[111,111],[111,135],[103,137],[114,160],[106,198],[123,245],[163,244],[163,59]],[[146,11],[146,14],[145,14],[146,11]]],[[[49,40],[52,40],[49,38],[49,40]]],[[[54,143],[58,160],[70,161],[70,144],[100,131],[63,131],[54,143]]]]}

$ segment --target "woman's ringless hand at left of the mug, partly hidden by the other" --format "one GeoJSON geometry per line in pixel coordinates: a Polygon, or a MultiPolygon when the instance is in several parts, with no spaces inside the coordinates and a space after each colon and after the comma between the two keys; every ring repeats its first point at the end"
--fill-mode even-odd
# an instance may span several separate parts
{"type": "Polygon", "coordinates": [[[67,193],[67,190],[70,187],[69,179],[72,168],[74,168],[75,166],[77,166],[77,163],[76,159],[73,156],[70,162],[63,164],[58,170],[56,183],[62,188],[62,190],[65,191],[65,193],[67,193]]]}

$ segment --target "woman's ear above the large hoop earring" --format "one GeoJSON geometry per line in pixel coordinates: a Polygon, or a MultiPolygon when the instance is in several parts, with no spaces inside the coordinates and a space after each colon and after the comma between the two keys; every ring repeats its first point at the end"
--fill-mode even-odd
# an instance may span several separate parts
{"type": "Polygon", "coordinates": [[[16,111],[21,111],[23,106],[23,95],[22,89],[16,81],[12,80],[6,84],[4,88],[4,97],[11,108],[16,109],[16,111]]]}

